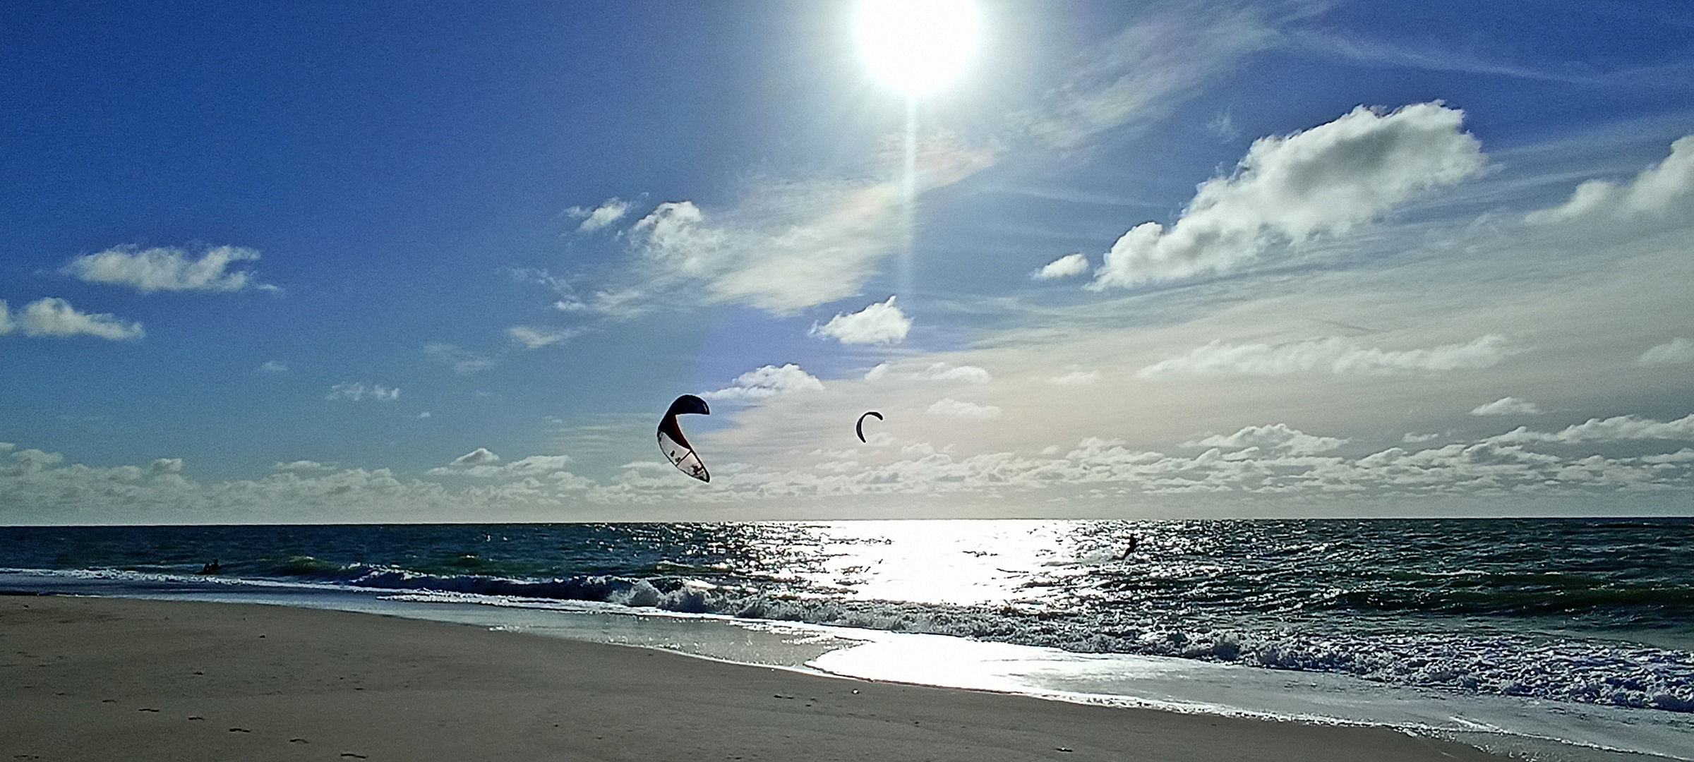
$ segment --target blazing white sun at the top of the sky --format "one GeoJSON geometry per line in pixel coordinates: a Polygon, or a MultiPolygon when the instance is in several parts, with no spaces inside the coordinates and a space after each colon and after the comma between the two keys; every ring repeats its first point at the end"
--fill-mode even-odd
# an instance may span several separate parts
{"type": "Polygon", "coordinates": [[[972,0],[861,0],[859,56],[883,85],[928,95],[971,64],[979,25],[972,0]]]}

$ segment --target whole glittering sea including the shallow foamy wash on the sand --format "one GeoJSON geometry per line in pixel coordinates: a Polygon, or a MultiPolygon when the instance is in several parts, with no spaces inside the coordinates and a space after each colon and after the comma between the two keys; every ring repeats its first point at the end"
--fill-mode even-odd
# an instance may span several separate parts
{"type": "Polygon", "coordinates": [[[0,527],[0,591],[1694,760],[1694,520],[0,527]]]}

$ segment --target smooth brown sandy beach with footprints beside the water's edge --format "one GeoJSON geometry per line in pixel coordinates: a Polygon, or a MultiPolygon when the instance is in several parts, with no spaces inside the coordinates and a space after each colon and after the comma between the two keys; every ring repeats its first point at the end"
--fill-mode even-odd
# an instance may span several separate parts
{"type": "Polygon", "coordinates": [[[390,616],[0,598],[3,760],[1499,760],[390,616]]]}

